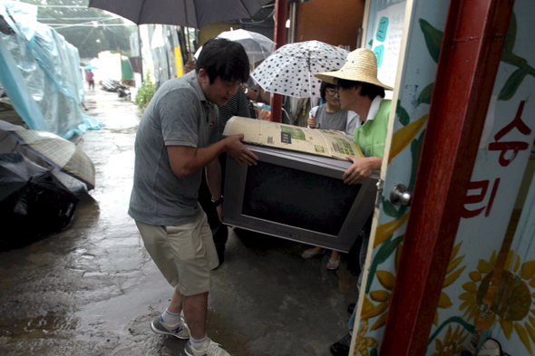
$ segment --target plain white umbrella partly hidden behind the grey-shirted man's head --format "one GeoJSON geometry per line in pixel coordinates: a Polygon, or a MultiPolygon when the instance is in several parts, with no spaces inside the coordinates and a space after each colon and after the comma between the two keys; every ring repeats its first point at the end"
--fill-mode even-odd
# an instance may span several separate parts
{"type": "MultiPolygon", "coordinates": [[[[240,43],[245,48],[249,63],[257,63],[268,58],[277,44],[263,34],[242,29],[222,32],[217,38],[226,38],[229,41],[240,43]]],[[[195,53],[195,58],[199,58],[200,51],[202,51],[202,46],[195,53]]]]}

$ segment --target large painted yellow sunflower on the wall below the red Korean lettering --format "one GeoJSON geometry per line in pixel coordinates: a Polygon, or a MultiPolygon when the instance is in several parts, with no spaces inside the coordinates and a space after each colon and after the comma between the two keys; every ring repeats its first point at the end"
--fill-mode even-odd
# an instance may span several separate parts
{"type": "MultiPolygon", "coordinates": [[[[471,281],[463,284],[465,293],[459,295],[463,301],[459,307],[463,316],[476,322],[482,303],[491,283],[496,266],[496,252],[489,261],[480,260],[477,269],[469,276],[471,281]]],[[[533,354],[535,345],[535,261],[522,263],[520,255],[509,251],[503,267],[500,283],[491,304],[493,316],[487,321],[489,325],[499,322],[507,340],[516,334],[526,350],[533,354]]]]}

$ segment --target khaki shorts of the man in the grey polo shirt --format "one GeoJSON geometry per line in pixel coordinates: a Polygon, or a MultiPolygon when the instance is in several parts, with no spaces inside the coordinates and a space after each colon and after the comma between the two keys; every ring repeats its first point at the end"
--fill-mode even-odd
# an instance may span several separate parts
{"type": "Polygon", "coordinates": [[[153,226],[136,221],[145,248],[161,274],[182,295],[209,292],[210,270],[219,265],[218,253],[201,212],[196,221],[180,226],[153,226]]]}

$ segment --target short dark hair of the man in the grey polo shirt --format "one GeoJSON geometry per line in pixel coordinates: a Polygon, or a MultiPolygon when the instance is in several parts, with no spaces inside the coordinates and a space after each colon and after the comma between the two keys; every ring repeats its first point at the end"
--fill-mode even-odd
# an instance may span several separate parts
{"type": "Polygon", "coordinates": [[[208,73],[210,84],[219,76],[226,82],[247,82],[249,78],[249,60],[240,43],[224,38],[213,38],[202,46],[195,72],[204,69],[208,73]]]}

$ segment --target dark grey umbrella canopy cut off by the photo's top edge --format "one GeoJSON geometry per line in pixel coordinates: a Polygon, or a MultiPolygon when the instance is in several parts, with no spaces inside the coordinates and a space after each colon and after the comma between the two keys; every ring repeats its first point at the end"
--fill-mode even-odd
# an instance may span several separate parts
{"type": "Polygon", "coordinates": [[[134,24],[200,28],[206,24],[250,18],[261,5],[257,0],[90,0],[89,7],[119,14],[134,24]]]}

